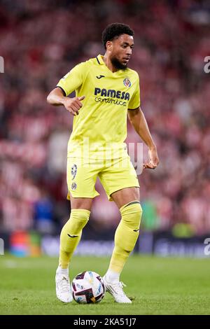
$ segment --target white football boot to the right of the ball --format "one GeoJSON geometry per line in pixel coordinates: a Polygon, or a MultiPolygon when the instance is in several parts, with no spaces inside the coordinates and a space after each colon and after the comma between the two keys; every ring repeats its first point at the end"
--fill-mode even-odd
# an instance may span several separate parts
{"type": "Polygon", "coordinates": [[[125,295],[123,291],[123,286],[126,287],[123,282],[120,281],[115,283],[107,282],[106,276],[103,277],[103,280],[104,280],[106,291],[108,291],[111,295],[113,295],[116,302],[127,303],[127,304],[132,303],[132,301],[127,297],[127,295],[125,295]]]}

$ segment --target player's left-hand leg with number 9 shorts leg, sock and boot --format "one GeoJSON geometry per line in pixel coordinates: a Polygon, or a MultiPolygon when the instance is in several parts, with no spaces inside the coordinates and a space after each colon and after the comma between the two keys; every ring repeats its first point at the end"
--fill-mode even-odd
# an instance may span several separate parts
{"type": "Polygon", "coordinates": [[[55,276],[56,294],[62,302],[72,300],[69,263],[89,220],[92,199],[99,195],[94,189],[96,179],[97,169],[81,167],[77,159],[68,159],[67,184],[69,199],[71,195],[71,215],[60,235],[59,266],[55,276]]]}

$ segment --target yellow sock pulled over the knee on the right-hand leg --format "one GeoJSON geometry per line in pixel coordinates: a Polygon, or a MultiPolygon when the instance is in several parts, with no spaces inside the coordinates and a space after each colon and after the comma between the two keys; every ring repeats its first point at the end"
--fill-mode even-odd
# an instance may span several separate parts
{"type": "Polygon", "coordinates": [[[115,234],[115,247],[109,270],[120,274],[125,262],[134,249],[139,237],[142,209],[139,201],[133,201],[120,208],[122,219],[115,234]]]}

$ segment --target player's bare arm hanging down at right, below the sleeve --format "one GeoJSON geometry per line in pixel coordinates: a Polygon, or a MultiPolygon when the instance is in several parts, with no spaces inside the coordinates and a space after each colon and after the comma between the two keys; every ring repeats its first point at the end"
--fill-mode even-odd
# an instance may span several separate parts
{"type": "Polygon", "coordinates": [[[158,151],[151,137],[151,132],[148,128],[144,113],[139,106],[137,109],[128,109],[128,118],[130,123],[141,137],[144,143],[148,146],[149,161],[144,163],[144,169],[155,169],[159,164],[158,151]]]}

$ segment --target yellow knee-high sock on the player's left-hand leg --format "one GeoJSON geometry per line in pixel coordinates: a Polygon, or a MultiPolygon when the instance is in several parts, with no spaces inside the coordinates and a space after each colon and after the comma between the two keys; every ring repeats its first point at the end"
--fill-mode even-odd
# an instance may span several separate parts
{"type": "Polygon", "coordinates": [[[78,245],[83,228],[90,217],[86,209],[71,209],[71,216],[62,228],[60,235],[59,266],[62,269],[69,267],[69,262],[78,245]]]}

